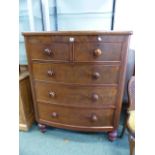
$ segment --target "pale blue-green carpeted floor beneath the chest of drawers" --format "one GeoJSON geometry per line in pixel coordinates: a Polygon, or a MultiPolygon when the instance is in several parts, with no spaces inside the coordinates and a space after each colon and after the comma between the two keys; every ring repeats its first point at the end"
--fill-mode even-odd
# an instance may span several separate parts
{"type": "MultiPolygon", "coordinates": [[[[122,125],[119,126],[119,133],[122,125]]],[[[129,155],[127,134],[114,142],[106,133],[82,133],[48,128],[41,133],[36,124],[19,133],[19,155],[129,155]]]]}

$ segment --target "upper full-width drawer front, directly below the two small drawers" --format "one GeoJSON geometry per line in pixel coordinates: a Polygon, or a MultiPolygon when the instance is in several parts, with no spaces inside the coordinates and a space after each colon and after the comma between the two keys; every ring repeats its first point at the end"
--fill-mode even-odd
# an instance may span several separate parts
{"type": "Polygon", "coordinates": [[[116,84],[119,78],[119,66],[34,63],[34,78],[64,83],[116,84]]]}

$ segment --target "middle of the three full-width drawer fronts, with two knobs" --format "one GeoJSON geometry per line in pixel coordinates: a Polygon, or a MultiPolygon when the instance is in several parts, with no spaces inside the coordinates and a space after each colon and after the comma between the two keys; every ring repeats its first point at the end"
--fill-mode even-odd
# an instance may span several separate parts
{"type": "Polygon", "coordinates": [[[37,101],[76,106],[115,105],[116,87],[68,86],[35,82],[37,101]]]}

